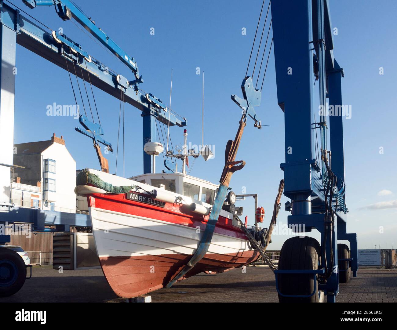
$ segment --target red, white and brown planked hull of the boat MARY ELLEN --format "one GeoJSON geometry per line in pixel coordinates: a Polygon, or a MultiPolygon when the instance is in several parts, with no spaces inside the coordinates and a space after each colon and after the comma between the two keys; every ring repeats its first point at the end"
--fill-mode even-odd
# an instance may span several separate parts
{"type": "MultiPolygon", "coordinates": [[[[208,217],[127,200],[125,194],[88,196],[100,265],[114,292],[131,298],[163,288],[198,247],[208,217]]],[[[220,217],[205,257],[184,278],[224,272],[258,258],[247,236],[220,217]]]]}

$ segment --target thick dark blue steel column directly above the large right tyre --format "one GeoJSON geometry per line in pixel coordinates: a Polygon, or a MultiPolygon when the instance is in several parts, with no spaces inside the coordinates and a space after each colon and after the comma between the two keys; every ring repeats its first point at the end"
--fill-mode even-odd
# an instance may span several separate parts
{"type": "Polygon", "coordinates": [[[293,215],[311,214],[311,0],[271,4],[278,104],[285,113],[284,195],[293,215]]]}

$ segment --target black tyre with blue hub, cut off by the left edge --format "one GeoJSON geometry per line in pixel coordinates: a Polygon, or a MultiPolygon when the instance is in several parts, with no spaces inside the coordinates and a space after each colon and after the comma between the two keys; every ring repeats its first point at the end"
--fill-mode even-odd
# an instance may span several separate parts
{"type": "Polygon", "coordinates": [[[18,292],[26,280],[26,266],[21,256],[8,248],[0,248],[0,297],[18,292]]]}

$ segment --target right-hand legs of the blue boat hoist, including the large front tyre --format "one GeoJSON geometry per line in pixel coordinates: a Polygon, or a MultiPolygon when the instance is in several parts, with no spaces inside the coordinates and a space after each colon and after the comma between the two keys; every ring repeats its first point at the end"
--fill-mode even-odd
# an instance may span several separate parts
{"type": "Polygon", "coordinates": [[[273,0],[271,9],[277,97],[285,122],[285,163],[280,168],[284,195],[291,199],[285,205],[291,211],[288,225],[294,232],[316,229],[321,234],[321,244],[299,236],[284,243],[275,271],[279,301],[318,302],[326,296],[335,302],[339,282],[349,281],[351,271],[357,276],[358,253],[357,234],[347,233],[346,227],[344,118],[331,112],[326,116],[329,108],[343,106],[344,73],[333,54],[330,6],[328,0],[288,5],[273,0]],[[350,249],[338,240],[348,240],[350,249]]]}

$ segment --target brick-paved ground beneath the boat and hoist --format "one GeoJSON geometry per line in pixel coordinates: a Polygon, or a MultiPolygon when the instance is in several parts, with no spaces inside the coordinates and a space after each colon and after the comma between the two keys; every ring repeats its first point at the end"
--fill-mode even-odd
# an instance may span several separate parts
{"type": "MultiPolygon", "coordinates": [[[[340,285],[337,302],[397,302],[397,269],[360,267],[357,278],[340,285]]],[[[153,302],[278,302],[268,267],[247,267],[217,275],[198,274],[171,289],[152,292],[153,302]]],[[[33,277],[12,297],[0,302],[124,302],[101,269],[64,271],[33,267],[33,277]]]]}

